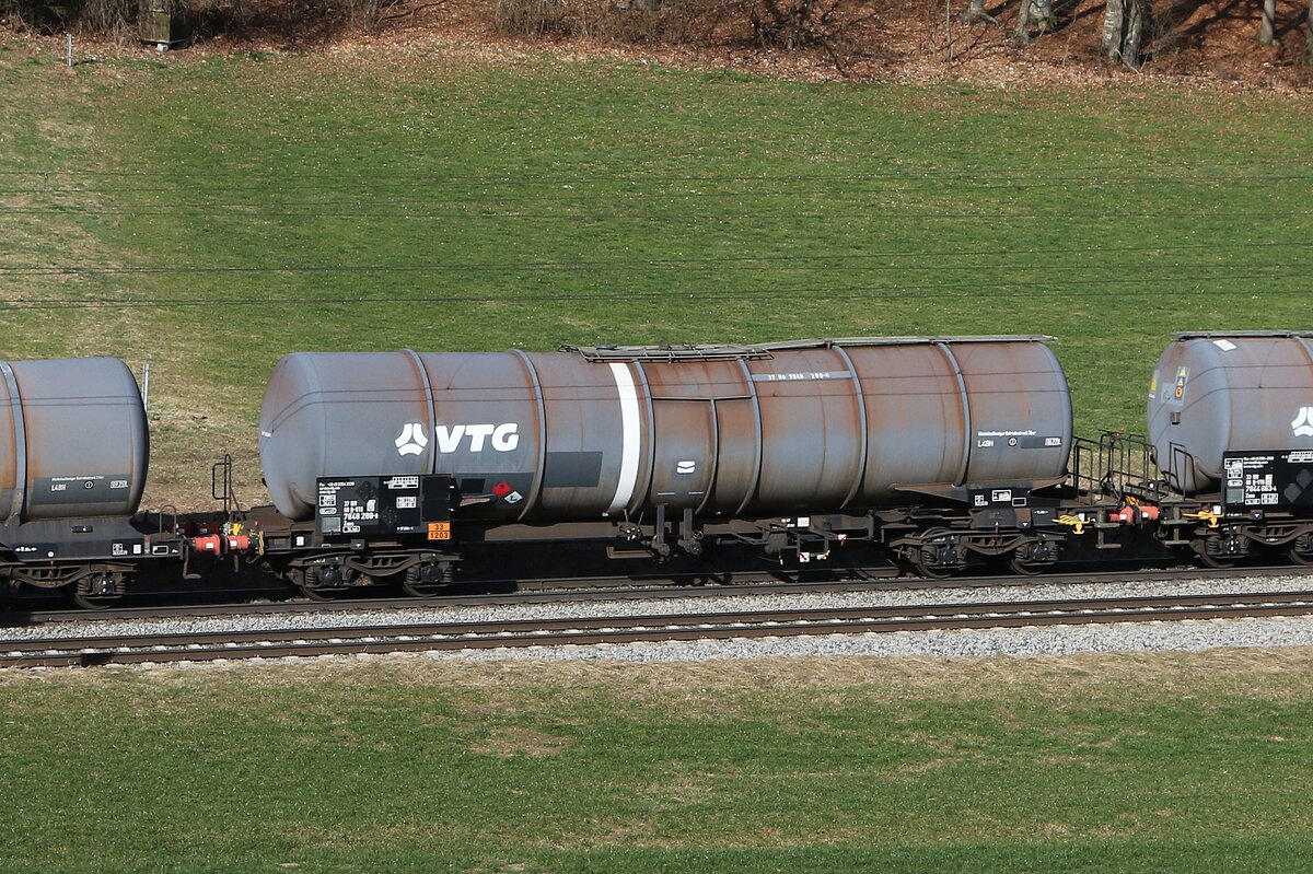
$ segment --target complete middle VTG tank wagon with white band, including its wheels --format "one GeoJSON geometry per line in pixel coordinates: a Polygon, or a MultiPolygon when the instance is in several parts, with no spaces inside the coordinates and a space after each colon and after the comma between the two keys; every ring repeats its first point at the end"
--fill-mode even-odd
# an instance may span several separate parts
{"type": "Polygon", "coordinates": [[[290,354],[260,451],[305,530],[265,546],[320,591],[423,589],[470,549],[587,539],[656,559],[880,543],[936,575],[970,555],[1050,564],[1071,403],[1048,339],[290,354]]]}

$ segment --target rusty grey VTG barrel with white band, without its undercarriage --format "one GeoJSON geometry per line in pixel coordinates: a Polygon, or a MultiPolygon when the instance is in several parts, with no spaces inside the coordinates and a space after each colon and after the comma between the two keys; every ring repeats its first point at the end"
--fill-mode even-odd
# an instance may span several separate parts
{"type": "Polygon", "coordinates": [[[466,517],[839,512],[1056,480],[1071,400],[1048,337],[297,353],[260,415],[278,510],[316,479],[449,474],[466,517]]]}

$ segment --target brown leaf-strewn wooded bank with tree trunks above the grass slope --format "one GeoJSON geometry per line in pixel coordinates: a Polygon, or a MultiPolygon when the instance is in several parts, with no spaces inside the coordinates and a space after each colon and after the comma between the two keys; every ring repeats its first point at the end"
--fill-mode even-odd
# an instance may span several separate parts
{"type": "MultiPolygon", "coordinates": [[[[205,54],[545,49],[788,79],[1313,87],[1310,3],[1267,1],[1268,28],[1264,0],[175,0],[172,38],[205,54]]],[[[0,0],[0,28],[74,31],[101,54],[146,50],[135,0],[0,0]]]]}

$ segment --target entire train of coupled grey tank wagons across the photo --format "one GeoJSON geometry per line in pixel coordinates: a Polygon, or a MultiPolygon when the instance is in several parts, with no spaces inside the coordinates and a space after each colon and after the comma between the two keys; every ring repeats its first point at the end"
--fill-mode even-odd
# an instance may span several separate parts
{"type": "Polygon", "coordinates": [[[710,579],[1313,564],[1313,332],[1178,335],[1148,434],[1098,441],[1073,434],[1048,340],[289,354],[260,415],[274,505],[226,500],[221,521],[139,510],[146,412],[123,362],[0,362],[0,583],[98,606],[150,567],[222,579],[202,556],[319,598],[586,560],[710,579]]]}

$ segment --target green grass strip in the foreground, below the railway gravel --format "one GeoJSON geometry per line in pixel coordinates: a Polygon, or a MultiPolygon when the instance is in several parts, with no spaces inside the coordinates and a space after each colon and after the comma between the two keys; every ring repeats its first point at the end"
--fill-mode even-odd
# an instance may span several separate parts
{"type": "Polygon", "coordinates": [[[1309,870],[1309,667],[9,675],[0,870],[1309,870]]]}

